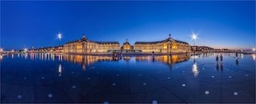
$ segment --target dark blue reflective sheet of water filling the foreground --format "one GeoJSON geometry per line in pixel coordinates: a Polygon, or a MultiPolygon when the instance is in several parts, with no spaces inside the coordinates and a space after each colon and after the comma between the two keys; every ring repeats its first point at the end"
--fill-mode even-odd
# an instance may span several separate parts
{"type": "Polygon", "coordinates": [[[0,58],[1,102],[255,102],[254,54],[0,58]]]}

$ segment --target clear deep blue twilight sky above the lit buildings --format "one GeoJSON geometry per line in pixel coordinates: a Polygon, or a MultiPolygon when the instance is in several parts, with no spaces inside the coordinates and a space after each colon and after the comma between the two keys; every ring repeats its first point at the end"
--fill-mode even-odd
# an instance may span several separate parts
{"type": "Polygon", "coordinates": [[[41,48],[77,40],[164,40],[213,48],[255,47],[255,2],[1,2],[1,47],[41,48]]]}

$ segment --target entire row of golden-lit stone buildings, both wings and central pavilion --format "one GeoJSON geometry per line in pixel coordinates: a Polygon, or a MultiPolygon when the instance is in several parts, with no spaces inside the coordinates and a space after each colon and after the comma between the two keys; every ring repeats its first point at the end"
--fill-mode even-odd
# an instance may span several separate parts
{"type": "Polygon", "coordinates": [[[80,40],[72,40],[58,47],[31,49],[31,52],[64,52],[70,54],[107,54],[107,53],[153,53],[178,54],[189,53],[191,46],[182,40],[169,37],[158,41],[136,41],[131,45],[128,40],[122,44],[118,41],[94,41],[82,36],[80,40]]]}

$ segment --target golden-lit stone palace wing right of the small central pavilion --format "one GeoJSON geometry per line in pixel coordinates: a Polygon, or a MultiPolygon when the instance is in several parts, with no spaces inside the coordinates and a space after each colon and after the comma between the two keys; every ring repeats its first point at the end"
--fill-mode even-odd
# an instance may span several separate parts
{"type": "Polygon", "coordinates": [[[164,54],[175,54],[175,53],[186,53],[190,52],[190,44],[181,41],[174,40],[170,37],[166,40],[151,41],[151,42],[142,42],[137,41],[134,44],[134,49],[142,50],[142,52],[151,52],[151,53],[164,53],[164,54]]]}

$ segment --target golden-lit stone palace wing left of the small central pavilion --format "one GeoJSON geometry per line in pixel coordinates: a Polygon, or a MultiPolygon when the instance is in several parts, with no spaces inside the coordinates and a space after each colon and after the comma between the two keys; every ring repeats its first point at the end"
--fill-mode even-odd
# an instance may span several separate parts
{"type": "Polygon", "coordinates": [[[70,41],[63,46],[65,53],[101,53],[108,52],[110,50],[120,50],[120,44],[117,41],[93,41],[86,39],[83,35],[81,40],[70,41]]]}

